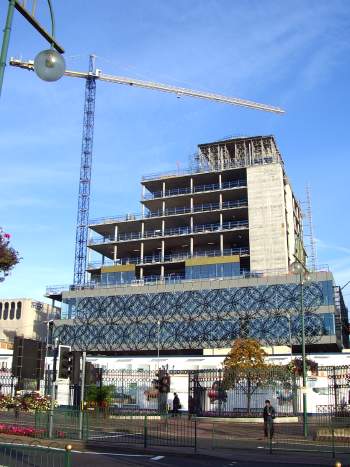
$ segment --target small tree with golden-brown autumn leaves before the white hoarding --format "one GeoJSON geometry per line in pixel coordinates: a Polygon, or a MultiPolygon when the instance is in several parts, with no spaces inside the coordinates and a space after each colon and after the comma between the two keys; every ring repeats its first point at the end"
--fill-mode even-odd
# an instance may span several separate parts
{"type": "Polygon", "coordinates": [[[265,363],[267,353],[254,339],[236,339],[224,360],[224,387],[239,387],[247,395],[250,413],[254,392],[269,380],[270,365],[265,363]]]}

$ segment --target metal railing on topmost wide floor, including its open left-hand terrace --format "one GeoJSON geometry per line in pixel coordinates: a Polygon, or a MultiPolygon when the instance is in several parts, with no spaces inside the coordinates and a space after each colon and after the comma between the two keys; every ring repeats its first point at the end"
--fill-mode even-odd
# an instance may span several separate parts
{"type": "Polygon", "coordinates": [[[193,209],[187,206],[177,206],[174,208],[167,208],[164,210],[157,209],[156,211],[148,211],[143,215],[142,213],[137,214],[124,214],[124,215],[117,215],[112,217],[100,217],[96,219],[91,219],[89,221],[89,225],[98,225],[104,224],[107,222],[133,222],[136,220],[144,220],[150,219],[153,217],[162,217],[162,216],[172,216],[176,214],[191,214],[197,212],[206,212],[206,211],[215,211],[218,209],[231,209],[231,208],[240,208],[240,207],[247,207],[248,200],[247,199],[239,199],[234,201],[223,201],[222,205],[220,203],[206,203],[206,204],[197,204],[193,206],[193,209]]]}

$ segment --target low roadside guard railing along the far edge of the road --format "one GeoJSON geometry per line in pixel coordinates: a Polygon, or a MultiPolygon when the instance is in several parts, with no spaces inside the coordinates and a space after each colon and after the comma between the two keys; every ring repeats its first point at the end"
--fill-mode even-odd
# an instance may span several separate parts
{"type": "MultiPolygon", "coordinates": [[[[5,424],[7,427],[14,426],[11,415],[8,415],[7,420],[2,420],[1,426],[5,424]]],[[[269,432],[270,436],[265,437],[261,417],[213,419],[197,418],[187,414],[130,415],[108,410],[79,412],[55,409],[52,438],[79,439],[90,449],[113,448],[128,444],[145,448],[168,446],[189,447],[194,450],[197,448],[264,449],[271,453],[274,451],[324,452],[335,456],[337,453],[350,454],[349,420],[349,417],[310,416],[305,436],[301,417],[277,416],[273,433],[269,432]]],[[[30,438],[50,436],[48,412],[21,414],[16,423],[17,434],[23,434],[23,430],[27,429],[27,436],[30,438]],[[33,428],[36,432],[30,431],[33,428]]],[[[19,439],[22,443],[23,438],[19,439]]]]}

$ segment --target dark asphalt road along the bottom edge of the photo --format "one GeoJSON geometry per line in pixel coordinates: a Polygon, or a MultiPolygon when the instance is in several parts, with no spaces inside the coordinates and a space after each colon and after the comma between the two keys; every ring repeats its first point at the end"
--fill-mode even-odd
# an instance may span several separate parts
{"type": "MultiPolygon", "coordinates": [[[[16,440],[17,442],[19,440],[16,440]]],[[[37,445],[41,444],[41,440],[36,440],[37,445]]],[[[44,441],[44,440],[42,440],[44,441]]],[[[28,444],[28,440],[27,443],[28,444]]],[[[32,443],[30,443],[32,444],[32,443]]],[[[52,443],[53,444],[53,443],[52,443]]],[[[8,445],[7,445],[8,446],[8,445]]],[[[60,446],[51,447],[63,450],[60,446]]],[[[23,444],[12,444],[10,453],[6,450],[0,451],[1,466],[8,466],[9,460],[21,458],[23,453],[23,444]],[[18,451],[18,453],[17,453],[18,451]]],[[[37,460],[32,463],[23,463],[39,467],[37,460]]],[[[83,444],[73,444],[72,450],[72,467],[112,467],[112,466],[159,466],[159,467],[233,467],[233,466],[252,466],[252,467],[269,467],[269,466],[334,466],[335,461],[341,462],[342,467],[350,467],[349,455],[337,455],[336,459],[332,458],[329,452],[297,452],[297,451],[273,451],[270,453],[266,447],[250,447],[249,449],[205,449],[200,448],[194,452],[193,448],[168,447],[168,446],[153,446],[152,448],[143,448],[140,445],[125,445],[118,446],[103,446],[96,447],[95,450],[88,449],[83,444]]],[[[16,464],[17,465],[17,464],[16,464]]],[[[40,466],[46,464],[40,463],[40,466]]]]}

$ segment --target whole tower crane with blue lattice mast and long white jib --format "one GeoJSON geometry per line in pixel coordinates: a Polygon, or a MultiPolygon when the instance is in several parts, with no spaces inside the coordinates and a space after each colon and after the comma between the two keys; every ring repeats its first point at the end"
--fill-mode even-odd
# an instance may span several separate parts
{"type": "MultiPolygon", "coordinates": [[[[25,70],[34,71],[34,61],[22,61],[11,58],[10,65],[23,68],[25,70]]],[[[96,81],[106,81],[108,83],[124,84],[127,86],[136,86],[144,89],[152,89],[155,91],[167,92],[176,94],[178,97],[189,96],[199,99],[207,99],[214,102],[224,104],[237,105],[248,107],[250,109],[283,114],[284,110],[279,107],[274,107],[267,104],[261,104],[250,100],[239,99],[237,97],[227,97],[221,94],[214,94],[193,89],[171,86],[168,84],[156,83],[153,81],[144,81],[135,78],[123,76],[113,76],[102,73],[101,70],[95,68],[95,56],[90,55],[89,71],[72,71],[66,70],[65,76],[71,78],[82,78],[85,83],[85,104],[84,104],[84,121],[83,121],[83,137],[81,147],[81,163],[80,163],[80,179],[79,179],[79,197],[78,197],[78,213],[77,227],[75,239],[75,259],[74,259],[74,278],[75,285],[82,285],[85,282],[86,274],[86,250],[88,241],[88,224],[89,224],[89,205],[90,205],[90,185],[91,185],[91,164],[92,164],[92,148],[94,137],[94,117],[95,117],[95,101],[96,101],[96,81]]]]}

